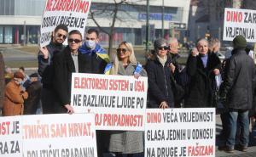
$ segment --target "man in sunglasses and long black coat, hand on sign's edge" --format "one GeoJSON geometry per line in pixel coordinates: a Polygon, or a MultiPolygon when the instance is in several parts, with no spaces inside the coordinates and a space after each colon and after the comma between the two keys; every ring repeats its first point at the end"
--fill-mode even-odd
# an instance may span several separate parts
{"type": "Polygon", "coordinates": [[[79,62],[79,47],[82,44],[80,31],[70,31],[67,42],[68,46],[61,53],[56,53],[53,59],[53,87],[56,95],[54,109],[55,113],[73,114],[73,107],[70,105],[71,80],[72,73],[79,72],[82,64],[79,62]]]}

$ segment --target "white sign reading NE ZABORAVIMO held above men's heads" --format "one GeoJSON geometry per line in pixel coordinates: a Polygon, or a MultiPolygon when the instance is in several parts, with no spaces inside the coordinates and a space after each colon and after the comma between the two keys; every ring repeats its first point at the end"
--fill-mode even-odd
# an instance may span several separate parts
{"type": "Polygon", "coordinates": [[[41,23],[40,47],[49,44],[55,26],[67,25],[68,31],[84,30],[91,0],[46,0],[41,23]]]}

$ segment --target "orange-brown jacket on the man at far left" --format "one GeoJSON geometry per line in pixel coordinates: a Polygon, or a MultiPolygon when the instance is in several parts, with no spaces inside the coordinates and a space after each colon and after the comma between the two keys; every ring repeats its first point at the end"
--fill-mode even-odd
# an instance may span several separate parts
{"type": "Polygon", "coordinates": [[[24,99],[28,94],[14,80],[9,81],[5,88],[3,102],[3,116],[23,115],[24,99]]]}

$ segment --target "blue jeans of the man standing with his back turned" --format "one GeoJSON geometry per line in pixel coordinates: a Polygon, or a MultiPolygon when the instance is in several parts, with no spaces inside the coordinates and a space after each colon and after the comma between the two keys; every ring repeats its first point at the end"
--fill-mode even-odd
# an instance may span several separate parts
{"type": "Polygon", "coordinates": [[[226,146],[230,149],[234,149],[236,143],[236,125],[241,128],[238,142],[241,146],[247,147],[249,143],[249,117],[248,110],[232,110],[227,113],[227,141],[226,146]],[[236,124],[238,122],[238,124],[236,124]]]}

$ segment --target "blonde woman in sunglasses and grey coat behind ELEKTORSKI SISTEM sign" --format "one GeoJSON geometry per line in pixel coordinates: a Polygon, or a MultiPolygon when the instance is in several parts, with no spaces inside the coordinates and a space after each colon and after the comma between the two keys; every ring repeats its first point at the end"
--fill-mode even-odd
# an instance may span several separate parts
{"type": "MultiPolygon", "coordinates": [[[[113,64],[107,65],[105,73],[120,76],[147,76],[141,64],[137,63],[134,51],[130,42],[121,42],[117,48],[117,54],[113,64]]],[[[121,157],[137,154],[143,156],[143,132],[114,131],[109,132],[108,151],[121,157]]]]}

